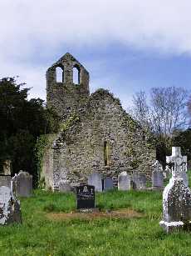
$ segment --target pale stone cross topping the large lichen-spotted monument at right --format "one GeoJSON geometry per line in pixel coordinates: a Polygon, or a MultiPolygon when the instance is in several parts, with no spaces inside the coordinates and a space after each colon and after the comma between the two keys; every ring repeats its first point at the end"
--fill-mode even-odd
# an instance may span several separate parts
{"type": "Polygon", "coordinates": [[[174,163],[174,168],[172,168],[173,177],[182,178],[182,174],[186,171],[187,156],[181,155],[180,147],[173,147],[172,155],[166,157],[166,163],[174,163]]]}

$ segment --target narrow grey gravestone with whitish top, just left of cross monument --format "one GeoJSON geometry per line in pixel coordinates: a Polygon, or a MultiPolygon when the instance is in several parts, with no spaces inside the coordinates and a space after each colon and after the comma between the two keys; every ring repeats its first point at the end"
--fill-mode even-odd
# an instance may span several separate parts
{"type": "Polygon", "coordinates": [[[158,160],[152,165],[152,188],[160,190],[164,187],[163,166],[158,160]]]}

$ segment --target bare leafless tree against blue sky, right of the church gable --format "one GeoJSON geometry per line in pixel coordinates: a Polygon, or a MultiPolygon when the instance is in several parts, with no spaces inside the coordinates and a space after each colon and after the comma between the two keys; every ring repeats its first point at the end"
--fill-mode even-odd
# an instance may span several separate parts
{"type": "Polygon", "coordinates": [[[165,138],[188,126],[187,105],[184,88],[151,88],[149,102],[144,92],[135,94],[131,113],[142,126],[165,138]]]}

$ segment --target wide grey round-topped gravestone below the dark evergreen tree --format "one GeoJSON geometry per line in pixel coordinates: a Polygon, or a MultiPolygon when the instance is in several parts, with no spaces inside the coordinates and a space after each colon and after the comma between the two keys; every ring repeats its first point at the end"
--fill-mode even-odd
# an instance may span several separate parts
{"type": "Polygon", "coordinates": [[[12,178],[12,189],[18,197],[30,197],[32,195],[32,175],[20,171],[12,178]]]}

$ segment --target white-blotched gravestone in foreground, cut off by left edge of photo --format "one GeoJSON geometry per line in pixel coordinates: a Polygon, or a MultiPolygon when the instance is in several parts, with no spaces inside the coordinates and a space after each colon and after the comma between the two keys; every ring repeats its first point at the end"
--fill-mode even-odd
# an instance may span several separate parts
{"type": "Polygon", "coordinates": [[[11,188],[2,186],[0,187],[0,224],[14,222],[22,222],[20,202],[14,198],[11,188]]]}

